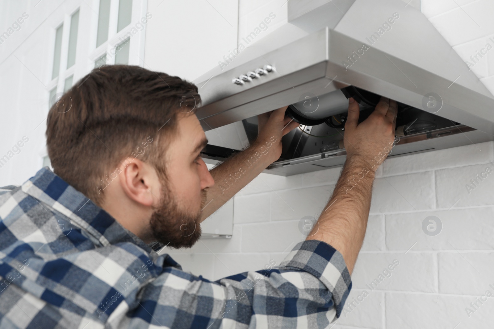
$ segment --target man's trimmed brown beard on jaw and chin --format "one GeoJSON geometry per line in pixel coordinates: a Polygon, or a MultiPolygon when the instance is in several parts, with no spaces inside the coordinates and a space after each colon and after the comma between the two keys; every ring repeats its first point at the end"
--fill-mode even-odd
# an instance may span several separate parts
{"type": "MultiPolygon", "coordinates": [[[[156,241],[170,248],[191,248],[201,237],[202,211],[190,214],[173,196],[165,178],[162,184],[161,206],[151,216],[150,227],[156,241]]],[[[206,203],[206,190],[201,191],[201,209],[206,203]]]]}

